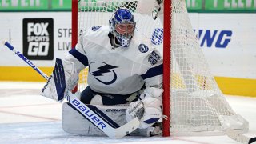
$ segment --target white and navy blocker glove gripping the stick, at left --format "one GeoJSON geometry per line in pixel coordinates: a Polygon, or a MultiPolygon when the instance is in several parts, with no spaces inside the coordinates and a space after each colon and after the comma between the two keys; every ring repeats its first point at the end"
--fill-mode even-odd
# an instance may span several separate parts
{"type": "Polygon", "coordinates": [[[73,90],[78,83],[78,73],[73,62],[56,58],[55,67],[41,95],[62,102],[67,91],[73,90]]]}

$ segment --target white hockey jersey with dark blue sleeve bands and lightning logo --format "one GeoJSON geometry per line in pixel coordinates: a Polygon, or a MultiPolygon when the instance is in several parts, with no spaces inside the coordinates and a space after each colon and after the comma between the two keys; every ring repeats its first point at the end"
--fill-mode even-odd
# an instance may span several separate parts
{"type": "Polygon", "coordinates": [[[66,60],[77,71],[89,66],[88,85],[103,94],[132,94],[146,87],[162,87],[162,56],[136,30],[129,47],[114,48],[109,26],[94,26],[84,34],[66,60]]]}

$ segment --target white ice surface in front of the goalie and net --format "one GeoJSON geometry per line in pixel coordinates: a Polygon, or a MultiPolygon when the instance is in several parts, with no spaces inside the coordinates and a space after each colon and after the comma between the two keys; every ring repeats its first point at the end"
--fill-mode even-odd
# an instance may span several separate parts
{"type": "MultiPolygon", "coordinates": [[[[0,82],[0,143],[238,143],[227,136],[152,138],[86,137],[62,130],[62,104],[40,96],[44,82],[0,82]]],[[[228,96],[234,111],[250,123],[247,136],[256,137],[256,98],[228,96]]]]}

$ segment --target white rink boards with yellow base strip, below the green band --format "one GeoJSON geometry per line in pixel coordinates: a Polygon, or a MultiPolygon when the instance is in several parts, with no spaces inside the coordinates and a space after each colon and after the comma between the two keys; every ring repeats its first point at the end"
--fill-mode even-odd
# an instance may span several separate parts
{"type": "MultiPolygon", "coordinates": [[[[25,52],[46,74],[51,74],[54,59],[63,58],[71,49],[70,12],[1,13],[0,16],[0,40],[5,39],[25,52]],[[43,30],[46,23],[48,29],[43,30]],[[41,33],[30,37],[31,30],[37,26],[41,26],[41,33]],[[43,32],[48,35],[40,36],[43,32]],[[48,54],[39,48],[33,52],[28,47],[31,38],[52,42],[53,46],[49,47],[48,54]]],[[[256,14],[193,13],[190,19],[221,90],[225,94],[256,96],[256,14]]],[[[10,51],[3,46],[0,50],[1,81],[43,81],[10,51]]]]}

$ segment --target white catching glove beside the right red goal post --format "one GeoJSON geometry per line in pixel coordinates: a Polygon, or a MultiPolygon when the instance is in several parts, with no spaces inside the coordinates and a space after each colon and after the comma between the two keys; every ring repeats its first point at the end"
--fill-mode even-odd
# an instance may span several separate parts
{"type": "Polygon", "coordinates": [[[138,128],[146,129],[162,118],[162,89],[146,88],[140,95],[141,100],[131,102],[126,110],[126,121],[130,122],[138,117],[140,125],[138,128]]]}

